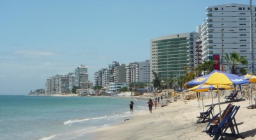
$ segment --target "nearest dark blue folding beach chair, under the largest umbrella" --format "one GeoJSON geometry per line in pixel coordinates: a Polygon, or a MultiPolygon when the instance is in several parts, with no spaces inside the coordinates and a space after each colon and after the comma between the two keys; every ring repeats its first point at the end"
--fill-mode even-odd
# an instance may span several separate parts
{"type": "MultiPolygon", "coordinates": [[[[228,114],[220,124],[210,125],[211,122],[208,123],[208,125],[205,129],[205,132],[210,137],[213,137],[212,140],[218,140],[219,137],[221,137],[223,139],[223,136],[228,136],[228,134],[226,134],[225,132],[227,131],[228,127],[230,127],[231,125],[234,126],[234,123],[231,123],[231,122],[232,122],[232,118],[234,118],[234,116],[236,115],[238,109],[239,109],[239,107],[236,106],[235,109],[230,114],[228,114]],[[207,129],[208,127],[209,127],[209,129],[207,129]],[[224,132],[223,132],[223,130],[224,130],[224,132]]],[[[212,118],[212,119],[215,119],[215,117],[217,117],[218,115],[219,115],[219,113],[216,116],[214,116],[214,118],[212,118]]],[[[238,129],[237,129],[237,132],[238,132],[238,129]]],[[[236,134],[235,135],[232,134],[232,136],[236,136],[236,134]]]]}

